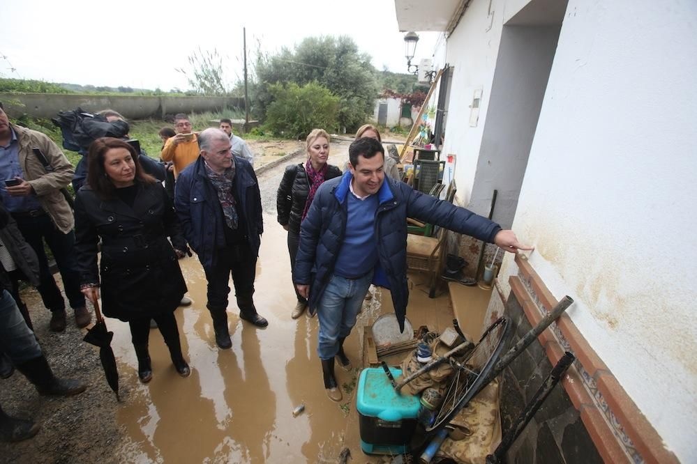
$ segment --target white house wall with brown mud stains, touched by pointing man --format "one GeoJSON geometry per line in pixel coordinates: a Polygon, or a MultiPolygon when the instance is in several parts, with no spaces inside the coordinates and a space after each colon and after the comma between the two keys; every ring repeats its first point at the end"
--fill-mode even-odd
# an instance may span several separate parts
{"type": "MultiPolygon", "coordinates": [[[[488,37],[472,33],[480,46],[488,37]]],[[[477,58],[490,59],[487,47],[477,58]]],[[[479,79],[486,95],[487,75],[457,88],[479,79]]],[[[569,316],[684,463],[697,462],[695,76],[694,0],[569,0],[513,224],[537,247],[534,269],[555,297],[574,297],[569,316]]],[[[450,143],[474,148],[469,132],[450,143]]],[[[515,267],[507,257],[506,291],[515,267]]]]}

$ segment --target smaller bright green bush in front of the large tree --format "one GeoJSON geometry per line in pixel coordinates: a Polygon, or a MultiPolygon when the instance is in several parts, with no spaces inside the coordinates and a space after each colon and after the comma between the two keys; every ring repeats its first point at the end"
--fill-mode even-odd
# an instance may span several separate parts
{"type": "Polygon", "coordinates": [[[315,127],[336,130],[340,98],[328,88],[310,82],[299,86],[271,84],[273,102],[267,107],[264,129],[286,137],[302,139],[315,127]]]}

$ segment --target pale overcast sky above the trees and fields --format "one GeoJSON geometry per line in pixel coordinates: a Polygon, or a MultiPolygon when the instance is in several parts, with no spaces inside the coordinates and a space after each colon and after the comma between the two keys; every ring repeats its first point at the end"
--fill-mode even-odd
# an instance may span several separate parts
{"type": "MultiPolygon", "coordinates": [[[[0,77],[186,89],[175,68],[201,47],[217,48],[234,80],[243,75],[243,26],[248,59],[257,44],[273,53],[308,36],[347,35],[378,70],[406,72],[393,0],[0,1],[0,77]]],[[[437,40],[419,36],[416,63],[437,40]]]]}

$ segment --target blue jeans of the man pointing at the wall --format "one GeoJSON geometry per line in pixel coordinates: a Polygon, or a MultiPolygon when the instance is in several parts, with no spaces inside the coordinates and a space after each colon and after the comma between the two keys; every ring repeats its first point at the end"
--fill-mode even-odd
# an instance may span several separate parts
{"type": "Polygon", "coordinates": [[[368,293],[373,271],[359,279],[331,276],[317,304],[320,332],[317,336],[317,355],[320,359],[334,357],[339,350],[338,339],[345,339],[356,325],[363,300],[368,293]]]}

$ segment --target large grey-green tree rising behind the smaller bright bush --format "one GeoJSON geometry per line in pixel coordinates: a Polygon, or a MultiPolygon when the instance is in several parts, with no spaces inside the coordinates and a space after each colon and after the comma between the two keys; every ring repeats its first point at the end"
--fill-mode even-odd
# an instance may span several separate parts
{"type": "MultiPolygon", "coordinates": [[[[283,48],[273,56],[260,55],[255,66],[254,103],[264,117],[273,101],[273,84],[305,86],[317,82],[339,98],[340,127],[354,130],[373,114],[378,88],[370,56],[359,52],[347,36],[308,37],[294,49],[283,48]]],[[[268,115],[267,115],[268,117],[268,115]]]]}

